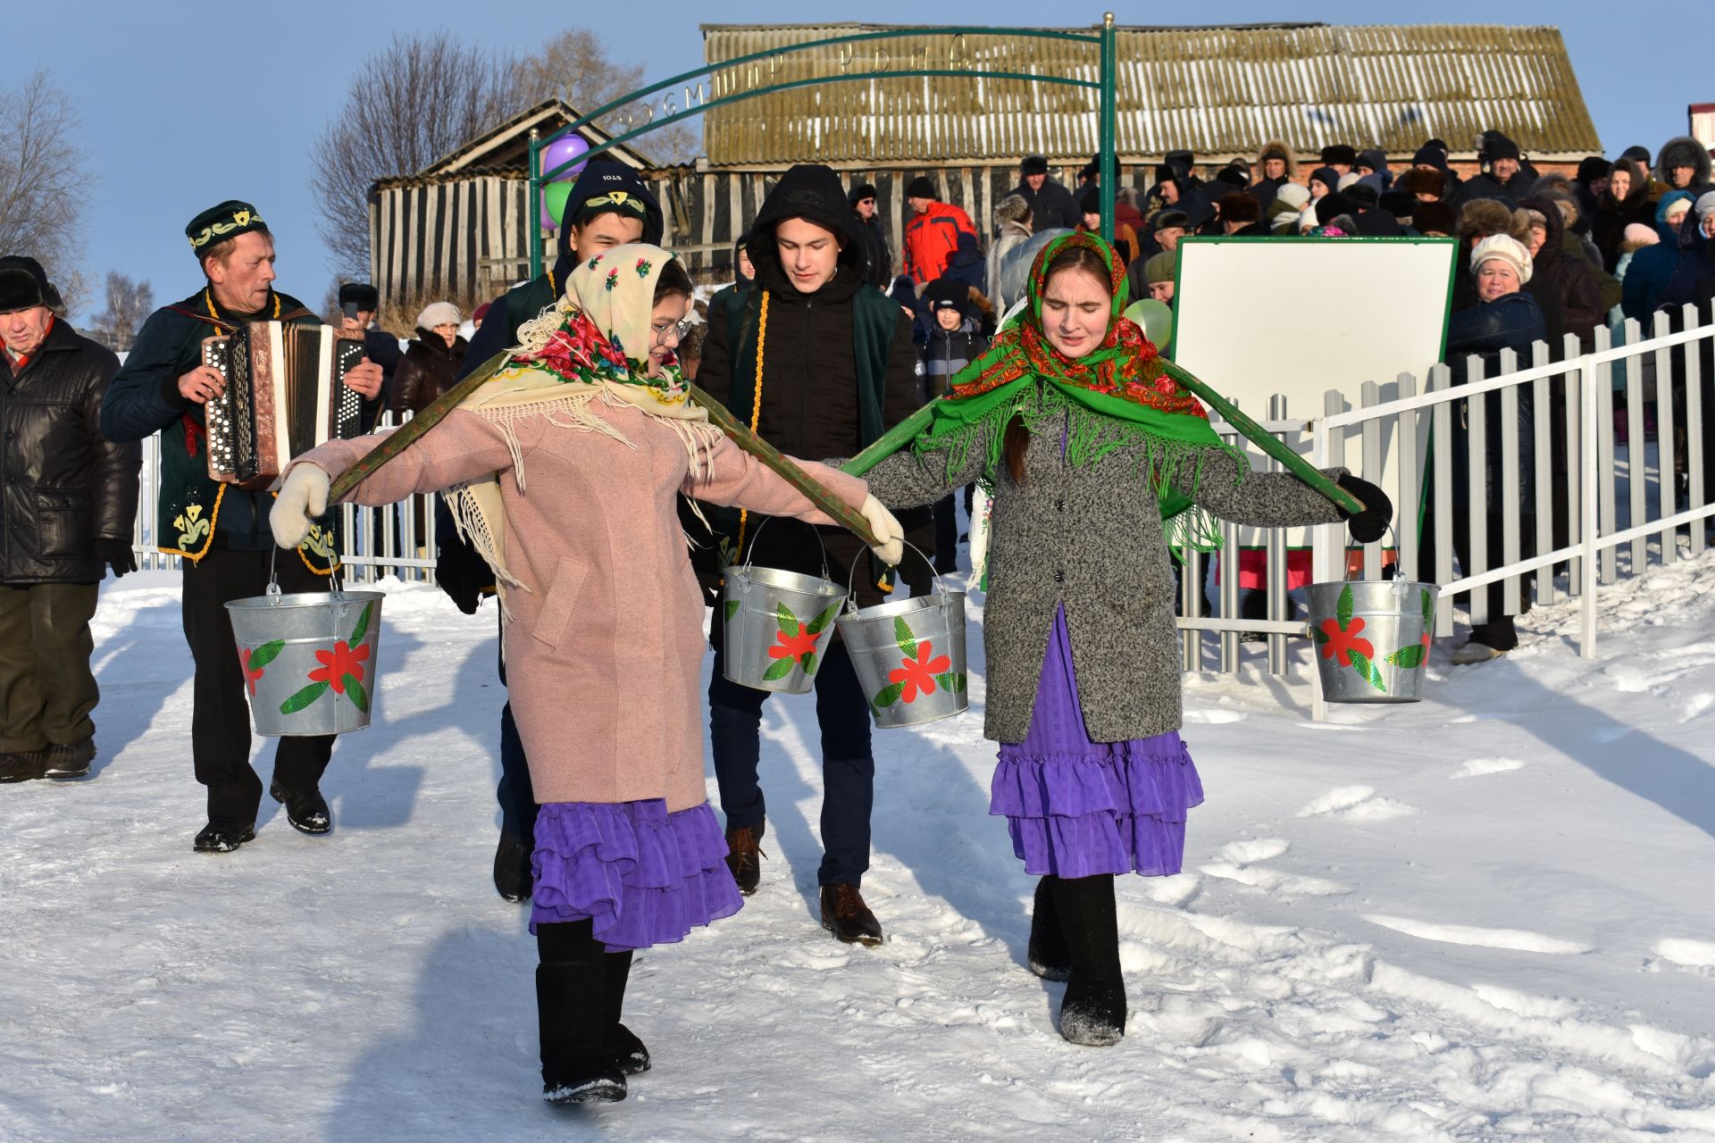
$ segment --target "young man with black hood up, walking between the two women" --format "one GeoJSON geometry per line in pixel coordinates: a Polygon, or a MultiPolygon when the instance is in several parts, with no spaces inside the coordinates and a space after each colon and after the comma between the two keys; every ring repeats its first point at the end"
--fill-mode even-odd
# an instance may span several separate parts
{"type": "MultiPolygon", "coordinates": [[[[852,456],[916,411],[916,346],[899,303],[863,279],[858,221],[839,177],[827,166],[789,170],[751,226],[756,281],[708,329],[696,382],[789,456],[852,456]]],[[[763,567],[844,576],[863,543],[839,528],[791,519],[713,512],[729,559],[763,567]],[[767,526],[763,526],[767,524],[767,526]],[[823,555],[827,552],[827,555],[823,555]]],[[[907,530],[914,523],[900,519],[907,530]]],[[[923,572],[926,567],[907,571],[923,572]]],[[[882,600],[868,557],[858,567],[858,600],[882,600]]],[[[914,584],[916,591],[926,583],[914,584]]],[[[708,728],[720,807],[727,816],[727,864],[739,891],[761,879],[763,795],[756,780],[767,691],[722,673],[722,624],[713,625],[715,667],[708,728]]],[[[880,944],[882,925],[859,883],[870,867],[875,759],[870,703],[839,636],[816,672],[821,728],[821,845],[816,879],[821,924],[840,941],[880,944]]]]}

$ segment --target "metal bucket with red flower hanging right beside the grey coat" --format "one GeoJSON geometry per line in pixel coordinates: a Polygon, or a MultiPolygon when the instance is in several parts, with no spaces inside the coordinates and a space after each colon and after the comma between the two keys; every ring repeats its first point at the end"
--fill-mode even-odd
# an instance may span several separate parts
{"type": "Polygon", "coordinates": [[[964,591],[947,591],[940,576],[935,589],[935,595],[875,607],[851,601],[835,620],[878,730],[919,727],[971,706],[964,591]]]}

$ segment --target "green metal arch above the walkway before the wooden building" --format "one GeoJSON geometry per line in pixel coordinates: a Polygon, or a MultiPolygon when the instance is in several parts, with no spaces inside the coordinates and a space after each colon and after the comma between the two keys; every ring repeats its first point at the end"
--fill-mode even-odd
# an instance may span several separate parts
{"type": "Polygon", "coordinates": [[[568,123],[566,127],[563,127],[561,130],[554,132],[552,135],[549,135],[545,139],[532,139],[530,141],[530,207],[528,207],[528,218],[530,218],[530,226],[532,226],[532,235],[533,235],[533,238],[530,242],[530,276],[532,278],[539,278],[542,274],[542,228],[539,224],[539,219],[540,219],[540,214],[542,214],[542,183],[552,182],[552,178],[556,175],[559,175],[566,168],[573,166],[575,163],[585,163],[585,161],[588,161],[593,156],[604,154],[605,151],[611,151],[612,147],[617,147],[617,146],[621,146],[624,142],[629,142],[631,139],[636,139],[638,135],[645,135],[645,134],[648,134],[648,132],[652,132],[652,130],[655,130],[659,127],[665,127],[669,123],[676,123],[679,120],[689,118],[691,115],[701,115],[701,113],[708,111],[710,108],[724,106],[724,105],[729,105],[729,103],[741,103],[744,99],[755,99],[758,96],[775,94],[775,93],[780,93],[780,91],[792,91],[792,89],[797,89],[797,87],[809,87],[809,86],[818,86],[818,84],[854,82],[854,81],[873,81],[873,79],[938,79],[938,77],[950,77],[950,79],[1012,79],[1012,81],[1022,81],[1022,82],[1027,82],[1027,84],[1060,84],[1060,86],[1065,86],[1065,87],[1089,87],[1089,89],[1094,89],[1098,93],[1098,98],[1099,98],[1099,115],[1101,115],[1101,127],[1099,127],[1101,149],[1099,149],[1099,154],[1098,154],[1098,161],[1101,165],[1101,235],[1103,235],[1103,238],[1106,238],[1106,240],[1111,242],[1113,240],[1113,190],[1115,190],[1113,189],[1113,180],[1116,177],[1116,168],[1115,168],[1115,135],[1116,135],[1116,118],[1118,118],[1116,108],[1115,108],[1115,70],[1116,70],[1116,36],[1115,36],[1115,27],[1113,27],[1113,12],[1106,12],[1103,15],[1101,29],[1094,36],[1084,36],[1084,34],[1079,34],[1079,33],[1053,31],[1053,29],[1046,29],[1046,27],[964,27],[964,26],[947,26],[947,27],[899,27],[899,29],[878,31],[878,33],[854,33],[851,36],[830,36],[830,38],[825,38],[825,39],[811,39],[811,41],[806,41],[806,43],[791,45],[787,48],[772,48],[768,51],[753,51],[751,55],[737,57],[737,58],[732,58],[732,60],[720,60],[719,63],[708,63],[708,65],[703,65],[700,69],[695,69],[695,70],[689,70],[689,72],[683,72],[683,74],[674,75],[671,79],[664,79],[664,81],[660,81],[657,84],[652,84],[648,87],[640,87],[638,91],[633,91],[633,93],[624,94],[624,96],[621,96],[617,99],[612,99],[612,101],[599,106],[597,110],[590,111],[583,118],[580,118],[580,120],[576,120],[573,123],[568,123]],[[677,87],[679,84],[684,84],[686,81],[691,81],[691,79],[696,79],[696,77],[712,75],[717,70],[725,70],[725,69],[731,69],[731,67],[743,67],[746,63],[756,63],[760,60],[780,58],[780,57],[794,55],[794,53],[799,53],[799,51],[809,51],[813,48],[830,48],[830,46],[839,46],[839,45],[847,45],[847,43],[866,43],[866,41],[878,41],[878,39],[899,39],[902,36],[971,36],[971,34],[981,34],[981,36],[1019,36],[1019,38],[1060,39],[1060,41],[1070,41],[1070,43],[1096,45],[1099,48],[1099,53],[1101,53],[1101,69],[1099,69],[1099,75],[1101,77],[1098,81],[1089,81],[1089,79],[1067,79],[1067,77],[1062,77],[1062,75],[1031,75],[1027,72],[986,72],[986,70],[955,70],[955,69],[907,69],[907,70],[897,70],[897,72],[895,70],[888,70],[888,72],[861,72],[861,74],[856,74],[856,75],[816,75],[816,77],[796,79],[796,81],[782,82],[782,84],[768,84],[768,86],[758,87],[755,91],[741,91],[741,93],[734,93],[731,96],[720,96],[719,99],[700,103],[696,108],[689,108],[688,106],[683,111],[674,111],[672,115],[662,117],[659,120],[652,118],[643,127],[636,127],[633,130],[624,132],[623,135],[611,137],[607,142],[602,142],[602,144],[599,144],[595,147],[590,147],[580,159],[576,159],[573,163],[561,163],[552,171],[544,171],[542,170],[542,151],[544,151],[544,147],[547,147],[556,139],[563,139],[563,137],[566,137],[566,135],[569,135],[569,134],[573,134],[573,132],[576,132],[576,130],[580,130],[583,127],[590,127],[602,115],[616,111],[616,110],[626,106],[628,103],[636,103],[638,99],[653,96],[659,91],[667,91],[671,87],[677,87]]]}

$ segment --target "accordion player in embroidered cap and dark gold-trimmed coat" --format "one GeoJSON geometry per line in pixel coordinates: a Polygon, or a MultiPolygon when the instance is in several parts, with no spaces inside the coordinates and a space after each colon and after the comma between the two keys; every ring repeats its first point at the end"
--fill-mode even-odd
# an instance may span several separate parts
{"type": "MultiPolygon", "coordinates": [[[[273,495],[218,483],[208,464],[204,406],[226,391],[226,379],[202,363],[202,341],[230,336],[249,322],[321,326],[321,317],[274,290],[274,238],[249,202],[230,199],[202,211],[185,226],[185,236],[204,286],[161,307],[137,331],[101,401],[101,432],[108,440],[161,435],[154,519],[161,550],[184,557],[180,607],[196,665],[190,757],[197,781],[208,787],[209,821],[192,848],[230,853],[256,838],[262,780],[250,768],[245,673],[226,603],[262,595],[271,571],[283,591],[326,591],[340,550],[328,518],[297,550],[280,552],[268,528],[273,495]]],[[[345,380],[364,396],[367,410],[379,406],[379,365],[360,362],[345,380]]],[[[288,735],[274,751],[268,792],[300,833],[333,829],[333,812],[321,795],[331,756],[333,735],[288,735]]]]}

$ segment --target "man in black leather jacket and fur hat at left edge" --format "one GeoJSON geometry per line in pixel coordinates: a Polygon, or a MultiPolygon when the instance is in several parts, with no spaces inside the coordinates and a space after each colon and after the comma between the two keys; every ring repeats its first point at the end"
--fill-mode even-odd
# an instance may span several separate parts
{"type": "Polygon", "coordinates": [[[89,620],[108,566],[137,569],[141,451],[99,427],[118,358],[58,305],[34,259],[0,259],[0,781],[89,773],[89,620]]]}

